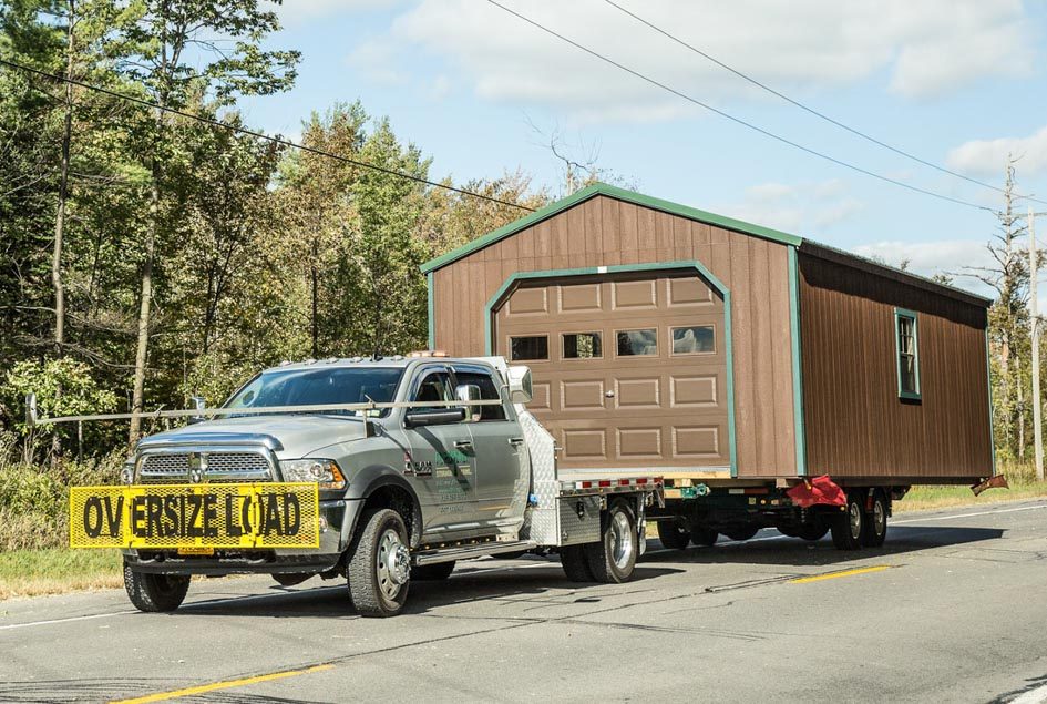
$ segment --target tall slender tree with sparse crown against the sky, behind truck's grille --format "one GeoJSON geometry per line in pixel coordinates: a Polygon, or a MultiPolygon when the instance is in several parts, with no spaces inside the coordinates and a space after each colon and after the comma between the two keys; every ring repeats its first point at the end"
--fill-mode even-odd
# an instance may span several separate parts
{"type": "MultiPolygon", "coordinates": [[[[134,411],[142,410],[145,392],[153,268],[165,226],[161,202],[164,166],[178,151],[177,135],[168,130],[165,111],[185,109],[193,95],[205,92],[225,104],[238,94],[269,94],[290,88],[299,53],[260,48],[265,38],[279,29],[279,22],[275,12],[259,6],[259,0],[140,0],[138,21],[125,32],[129,42],[138,48],[135,60],[123,64],[125,74],[157,105],[142,134],[151,188],[148,228],[142,245],[134,411]],[[215,40],[216,35],[223,39],[215,40]]],[[[132,441],[140,431],[140,420],[132,420],[132,441]]]]}

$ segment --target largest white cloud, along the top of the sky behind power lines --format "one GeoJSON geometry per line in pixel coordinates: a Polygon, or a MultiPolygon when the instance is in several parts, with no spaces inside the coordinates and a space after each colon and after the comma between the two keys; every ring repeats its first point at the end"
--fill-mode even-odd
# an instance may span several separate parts
{"type": "MultiPolygon", "coordinates": [[[[319,0],[311,0],[314,2],[319,0]]],[[[503,0],[595,51],[717,102],[757,91],[599,0],[503,0]]],[[[1020,0],[626,0],[653,23],[783,90],[848,85],[880,71],[892,90],[930,96],[1031,70],[1020,0]]],[[[492,101],[546,105],[583,121],[649,121],[698,109],[475,0],[422,0],[379,45],[444,58],[492,101]]],[[[760,93],[762,100],[762,93],[760,93]]]]}

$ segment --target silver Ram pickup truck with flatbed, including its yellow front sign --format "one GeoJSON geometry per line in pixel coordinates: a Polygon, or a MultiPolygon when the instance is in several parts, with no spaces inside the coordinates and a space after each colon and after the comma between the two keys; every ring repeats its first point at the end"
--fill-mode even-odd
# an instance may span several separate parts
{"type": "Polygon", "coordinates": [[[193,574],[269,573],[347,579],[360,614],[389,616],[411,580],[526,551],[558,552],[572,580],[628,580],[660,479],[563,476],[530,387],[501,357],[267,369],[138,442],[122,487],[75,488],[72,544],[122,547],[142,611],[176,609],[193,574]]]}

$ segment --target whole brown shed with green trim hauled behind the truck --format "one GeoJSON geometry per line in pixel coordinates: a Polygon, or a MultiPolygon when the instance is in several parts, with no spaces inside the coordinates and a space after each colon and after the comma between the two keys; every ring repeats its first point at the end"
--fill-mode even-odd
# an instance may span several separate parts
{"type": "Polygon", "coordinates": [[[993,473],[985,298],[605,184],[422,271],[430,346],[528,365],[563,467],[993,473]]]}

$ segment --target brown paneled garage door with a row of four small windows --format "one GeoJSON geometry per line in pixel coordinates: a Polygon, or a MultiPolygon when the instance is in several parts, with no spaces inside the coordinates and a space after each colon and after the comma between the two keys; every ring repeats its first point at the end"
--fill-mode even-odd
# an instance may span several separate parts
{"type": "Polygon", "coordinates": [[[728,467],[725,334],[694,271],[522,282],[493,333],[569,469],[728,467]]]}

